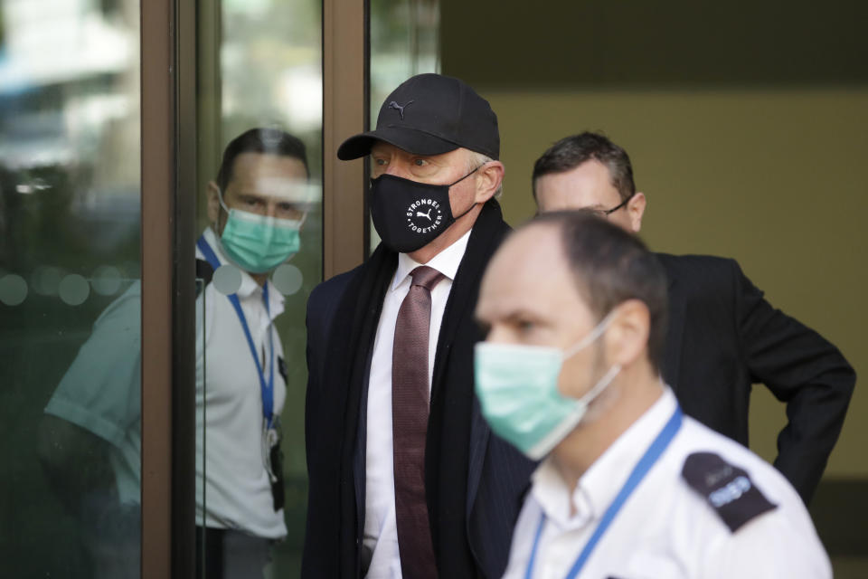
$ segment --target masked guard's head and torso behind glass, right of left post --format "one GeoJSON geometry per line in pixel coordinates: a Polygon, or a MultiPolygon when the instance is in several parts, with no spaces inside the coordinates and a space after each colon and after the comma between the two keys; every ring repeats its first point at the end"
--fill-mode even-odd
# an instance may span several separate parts
{"type": "MultiPolygon", "coordinates": [[[[305,251],[313,206],[296,137],[252,128],[231,140],[207,191],[196,242],[197,576],[262,577],[287,536],[281,413],[287,361],[274,320],[285,298],[270,278],[305,251]]],[[[315,197],[318,199],[318,195],[315,197]]],[[[316,249],[316,248],[315,248],[316,249]]]]}

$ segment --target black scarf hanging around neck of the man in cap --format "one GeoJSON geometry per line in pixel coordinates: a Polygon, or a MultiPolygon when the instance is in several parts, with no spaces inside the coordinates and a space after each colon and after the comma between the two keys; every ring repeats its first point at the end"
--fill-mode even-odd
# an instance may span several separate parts
{"type": "MultiPolygon", "coordinates": [[[[473,408],[472,345],[479,337],[473,313],[486,263],[508,232],[500,205],[490,200],[483,206],[470,233],[440,327],[431,384],[425,485],[441,577],[478,574],[467,541],[466,518],[473,408]]],[[[337,553],[356,553],[354,567],[342,568],[342,577],[358,575],[360,544],[357,539],[361,540],[362,521],[356,517],[355,438],[382,301],[397,263],[398,254],[381,244],[356,271],[336,310],[328,341],[331,362],[325,371],[323,400],[334,409],[335,423],[328,431],[329,440],[316,441],[316,446],[340,457],[334,472],[338,488],[334,489],[336,495],[332,495],[340,501],[336,509],[339,520],[331,523],[340,529],[339,536],[335,537],[337,553]]],[[[360,510],[363,512],[363,506],[360,510]]]]}

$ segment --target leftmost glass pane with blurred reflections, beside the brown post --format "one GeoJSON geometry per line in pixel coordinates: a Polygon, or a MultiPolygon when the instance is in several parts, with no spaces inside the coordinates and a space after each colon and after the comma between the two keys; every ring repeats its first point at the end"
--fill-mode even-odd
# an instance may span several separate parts
{"type": "Polygon", "coordinates": [[[137,577],[139,5],[0,0],[4,577],[137,577]]]}

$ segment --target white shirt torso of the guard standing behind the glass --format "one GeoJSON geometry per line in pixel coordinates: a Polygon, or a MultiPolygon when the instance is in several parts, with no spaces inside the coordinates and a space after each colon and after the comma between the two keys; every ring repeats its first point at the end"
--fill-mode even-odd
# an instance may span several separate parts
{"type": "MultiPolygon", "coordinates": [[[[212,229],[203,233],[221,264],[231,263],[212,229]]],[[[196,248],[196,257],[203,254],[196,248]]],[[[283,313],[283,295],[269,284],[269,308],[262,288],[241,271],[238,299],[269,379],[283,346],[274,318],[283,313]]],[[[253,536],[287,535],[283,509],[274,510],[271,482],[263,461],[262,394],[259,370],[231,301],[213,283],[196,299],[196,524],[230,528],[253,536]],[[204,319],[203,319],[204,317],[204,319]]],[[[274,368],[273,412],[280,414],[287,386],[274,368]]]]}

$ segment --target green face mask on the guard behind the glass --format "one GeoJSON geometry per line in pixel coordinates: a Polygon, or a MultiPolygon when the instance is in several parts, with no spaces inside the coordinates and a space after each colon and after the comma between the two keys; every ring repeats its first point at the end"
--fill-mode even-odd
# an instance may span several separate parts
{"type": "Polygon", "coordinates": [[[301,248],[298,233],[305,222],[304,217],[298,220],[278,219],[229,209],[223,204],[222,193],[220,204],[229,214],[220,236],[223,251],[244,271],[271,271],[301,248]]]}

